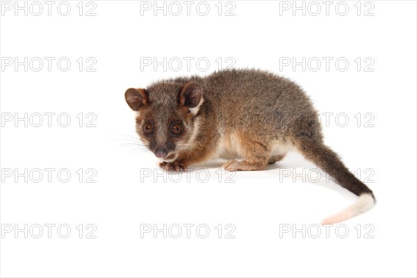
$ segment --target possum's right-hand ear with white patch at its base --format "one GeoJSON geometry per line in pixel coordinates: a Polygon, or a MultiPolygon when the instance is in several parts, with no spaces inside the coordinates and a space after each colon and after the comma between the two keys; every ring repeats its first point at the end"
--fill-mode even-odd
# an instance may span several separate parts
{"type": "Polygon", "coordinates": [[[179,105],[186,108],[193,115],[197,114],[203,101],[203,88],[199,83],[187,83],[179,92],[179,105]]]}

